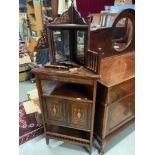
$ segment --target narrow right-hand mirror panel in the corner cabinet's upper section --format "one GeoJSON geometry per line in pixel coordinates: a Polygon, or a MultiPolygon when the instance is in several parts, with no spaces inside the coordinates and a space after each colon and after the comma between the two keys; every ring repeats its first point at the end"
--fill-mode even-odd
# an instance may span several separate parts
{"type": "Polygon", "coordinates": [[[76,61],[80,64],[84,64],[85,37],[85,31],[77,31],[76,61]]]}

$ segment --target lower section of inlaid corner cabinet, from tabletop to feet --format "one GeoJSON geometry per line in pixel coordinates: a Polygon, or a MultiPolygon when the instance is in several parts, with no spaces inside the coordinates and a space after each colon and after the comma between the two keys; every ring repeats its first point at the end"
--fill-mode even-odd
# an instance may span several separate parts
{"type": "Polygon", "coordinates": [[[33,73],[41,101],[46,142],[49,138],[79,144],[89,149],[93,142],[98,75],[81,69],[36,68],[33,73]]]}

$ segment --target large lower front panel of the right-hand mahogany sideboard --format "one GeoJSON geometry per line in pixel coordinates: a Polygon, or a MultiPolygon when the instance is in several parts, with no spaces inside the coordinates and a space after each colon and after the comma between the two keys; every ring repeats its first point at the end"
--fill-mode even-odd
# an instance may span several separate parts
{"type": "Polygon", "coordinates": [[[106,107],[106,135],[134,118],[135,94],[132,93],[106,107]]]}

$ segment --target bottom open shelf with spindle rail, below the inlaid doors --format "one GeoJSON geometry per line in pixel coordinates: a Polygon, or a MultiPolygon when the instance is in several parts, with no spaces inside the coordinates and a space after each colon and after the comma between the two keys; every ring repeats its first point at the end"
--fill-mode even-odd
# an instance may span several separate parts
{"type": "Polygon", "coordinates": [[[49,138],[51,137],[70,143],[84,146],[90,145],[90,133],[85,131],[48,124],[46,135],[49,138]]]}

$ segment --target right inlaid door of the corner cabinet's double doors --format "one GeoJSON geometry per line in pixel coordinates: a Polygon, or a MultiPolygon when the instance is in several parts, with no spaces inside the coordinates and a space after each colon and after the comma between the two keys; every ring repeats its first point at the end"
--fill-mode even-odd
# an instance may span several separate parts
{"type": "Polygon", "coordinates": [[[91,104],[70,102],[71,127],[89,130],[91,126],[91,104]]]}

